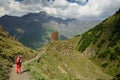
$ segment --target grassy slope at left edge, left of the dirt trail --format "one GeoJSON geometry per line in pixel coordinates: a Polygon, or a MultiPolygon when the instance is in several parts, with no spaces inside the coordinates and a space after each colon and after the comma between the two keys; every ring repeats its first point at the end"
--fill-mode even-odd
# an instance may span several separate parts
{"type": "Polygon", "coordinates": [[[1,80],[9,79],[10,67],[15,61],[15,57],[23,55],[23,61],[35,56],[35,51],[23,46],[15,38],[9,35],[2,26],[0,26],[0,78],[1,80]]]}

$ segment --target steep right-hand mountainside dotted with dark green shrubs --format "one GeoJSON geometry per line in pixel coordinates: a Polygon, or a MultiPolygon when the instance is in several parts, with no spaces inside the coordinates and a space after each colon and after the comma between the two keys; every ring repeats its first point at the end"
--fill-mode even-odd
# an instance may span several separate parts
{"type": "Polygon", "coordinates": [[[120,79],[120,10],[82,34],[76,48],[120,79]]]}

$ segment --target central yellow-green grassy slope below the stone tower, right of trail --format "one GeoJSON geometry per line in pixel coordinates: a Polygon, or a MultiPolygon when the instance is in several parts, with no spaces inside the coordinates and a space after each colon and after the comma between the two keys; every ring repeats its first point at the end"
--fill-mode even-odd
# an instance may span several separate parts
{"type": "Polygon", "coordinates": [[[36,80],[109,80],[84,55],[74,50],[79,37],[68,41],[58,41],[46,45],[47,50],[36,61],[27,65],[36,80]]]}

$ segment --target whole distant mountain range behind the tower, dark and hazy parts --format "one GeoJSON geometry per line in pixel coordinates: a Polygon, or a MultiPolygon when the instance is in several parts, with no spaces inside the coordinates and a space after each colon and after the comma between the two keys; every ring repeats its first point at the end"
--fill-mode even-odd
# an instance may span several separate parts
{"type": "Polygon", "coordinates": [[[3,25],[12,36],[24,45],[34,49],[48,42],[50,40],[49,35],[53,31],[58,31],[62,35],[60,39],[67,39],[71,35],[88,30],[98,22],[96,20],[63,20],[62,18],[50,16],[46,12],[29,13],[22,17],[5,15],[0,18],[0,25],[3,25]]]}

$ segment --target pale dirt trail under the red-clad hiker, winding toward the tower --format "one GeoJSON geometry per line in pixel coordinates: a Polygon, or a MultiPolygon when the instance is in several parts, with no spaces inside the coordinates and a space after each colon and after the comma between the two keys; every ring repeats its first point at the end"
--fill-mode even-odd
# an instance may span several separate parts
{"type": "Polygon", "coordinates": [[[29,70],[25,69],[24,64],[28,64],[38,59],[39,56],[41,56],[41,54],[43,53],[44,51],[41,51],[40,54],[38,54],[35,58],[24,62],[21,67],[21,74],[16,74],[16,65],[14,64],[10,72],[9,80],[34,80],[33,77],[30,75],[29,70]]]}

